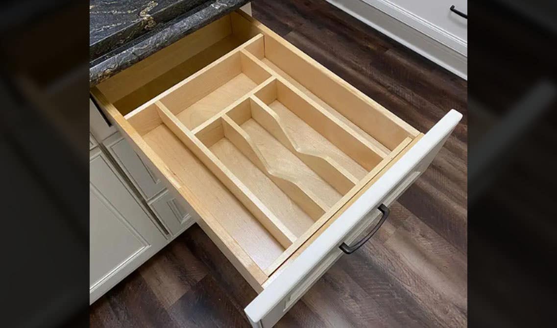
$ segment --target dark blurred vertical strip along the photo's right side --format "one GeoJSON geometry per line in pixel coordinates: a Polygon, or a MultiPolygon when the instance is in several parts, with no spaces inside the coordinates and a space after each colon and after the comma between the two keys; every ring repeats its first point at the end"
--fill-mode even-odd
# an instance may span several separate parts
{"type": "Polygon", "coordinates": [[[468,8],[468,324],[554,326],[557,2],[468,8]]]}

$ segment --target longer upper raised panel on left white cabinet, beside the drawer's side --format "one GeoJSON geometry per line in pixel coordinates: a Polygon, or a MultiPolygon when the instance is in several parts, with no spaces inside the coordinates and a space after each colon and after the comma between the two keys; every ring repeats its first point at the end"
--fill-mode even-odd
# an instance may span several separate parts
{"type": "Polygon", "coordinates": [[[106,138],[102,143],[128,175],[131,182],[139,189],[145,200],[152,199],[165,189],[160,179],[141,161],[128,141],[119,132],[106,138]]]}

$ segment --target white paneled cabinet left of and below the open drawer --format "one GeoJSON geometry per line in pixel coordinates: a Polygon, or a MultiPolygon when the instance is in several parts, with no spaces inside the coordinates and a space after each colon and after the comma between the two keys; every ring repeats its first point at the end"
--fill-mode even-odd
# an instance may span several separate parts
{"type": "MultiPolygon", "coordinates": [[[[95,108],[92,108],[96,110],[95,108]]],[[[99,121],[104,123],[104,121],[99,121]]],[[[97,124],[98,127],[99,124],[97,124]]],[[[96,130],[99,134],[99,129],[96,130]]],[[[104,134],[106,136],[106,134],[104,134]]],[[[170,195],[160,180],[116,132],[103,142],[104,153],[89,135],[89,301],[92,303],[189,228],[197,214],[170,195]],[[111,158],[110,158],[111,156],[111,158]],[[121,176],[114,160],[144,197],[121,176]],[[145,204],[143,202],[143,204],[145,204]],[[160,228],[154,216],[168,230],[160,228]]]]}

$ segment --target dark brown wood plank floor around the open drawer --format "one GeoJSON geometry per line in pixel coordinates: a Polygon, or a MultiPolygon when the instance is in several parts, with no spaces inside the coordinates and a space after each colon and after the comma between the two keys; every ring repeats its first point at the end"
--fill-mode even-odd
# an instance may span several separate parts
{"type": "MultiPolygon", "coordinates": [[[[467,83],[325,1],[252,3],[253,16],[422,132],[461,123],[379,233],[337,262],[280,327],[467,325],[467,83]]],[[[256,292],[199,226],[90,307],[92,327],[243,327],[256,292]]]]}

